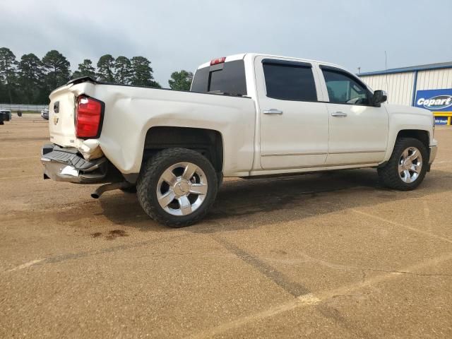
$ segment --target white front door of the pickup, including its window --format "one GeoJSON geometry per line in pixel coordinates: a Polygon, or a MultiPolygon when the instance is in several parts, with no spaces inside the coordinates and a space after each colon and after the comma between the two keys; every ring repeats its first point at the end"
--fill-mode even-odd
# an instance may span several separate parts
{"type": "Polygon", "coordinates": [[[371,105],[372,93],[346,71],[321,66],[328,92],[330,137],[326,165],[381,162],[388,143],[388,112],[371,105]]]}

